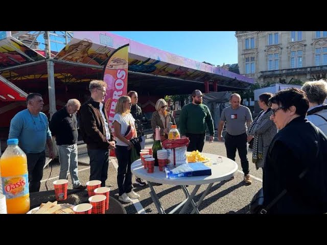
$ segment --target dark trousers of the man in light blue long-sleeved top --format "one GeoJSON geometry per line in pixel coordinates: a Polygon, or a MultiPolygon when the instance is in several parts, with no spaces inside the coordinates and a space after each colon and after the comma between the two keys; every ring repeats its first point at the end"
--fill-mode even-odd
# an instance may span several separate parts
{"type": "Polygon", "coordinates": [[[27,153],[27,169],[29,171],[29,190],[36,192],[40,190],[45,164],[45,152],[27,153]]]}

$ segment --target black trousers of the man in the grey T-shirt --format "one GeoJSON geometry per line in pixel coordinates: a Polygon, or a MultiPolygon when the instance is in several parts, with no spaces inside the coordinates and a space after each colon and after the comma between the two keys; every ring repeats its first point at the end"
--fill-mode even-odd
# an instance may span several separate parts
{"type": "Polygon", "coordinates": [[[241,158],[242,170],[244,175],[247,175],[249,173],[249,161],[247,159],[247,134],[230,135],[226,133],[225,146],[227,157],[233,161],[235,161],[236,150],[238,150],[241,158]]]}

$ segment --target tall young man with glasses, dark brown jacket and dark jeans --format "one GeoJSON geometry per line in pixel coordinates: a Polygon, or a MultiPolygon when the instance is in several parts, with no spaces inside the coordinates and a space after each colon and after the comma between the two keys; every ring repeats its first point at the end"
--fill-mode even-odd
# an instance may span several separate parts
{"type": "Polygon", "coordinates": [[[90,158],[90,180],[100,180],[102,187],[108,178],[109,149],[115,149],[114,136],[103,104],[106,89],[104,81],[91,81],[91,97],[80,109],[80,132],[90,158]]]}

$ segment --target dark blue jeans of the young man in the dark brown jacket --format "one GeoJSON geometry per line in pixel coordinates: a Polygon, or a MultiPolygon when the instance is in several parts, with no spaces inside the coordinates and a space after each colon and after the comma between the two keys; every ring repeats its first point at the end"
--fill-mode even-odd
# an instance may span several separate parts
{"type": "Polygon", "coordinates": [[[100,180],[106,186],[109,166],[109,149],[87,149],[90,158],[90,180],[100,180]]]}

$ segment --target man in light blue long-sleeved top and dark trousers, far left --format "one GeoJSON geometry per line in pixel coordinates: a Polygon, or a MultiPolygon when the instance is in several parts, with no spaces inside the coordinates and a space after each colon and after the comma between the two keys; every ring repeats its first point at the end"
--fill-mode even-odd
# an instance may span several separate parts
{"type": "Polygon", "coordinates": [[[45,143],[49,157],[54,159],[52,136],[48,118],[44,113],[42,95],[30,93],[26,98],[27,109],[18,112],[10,122],[9,139],[18,139],[20,148],[27,156],[29,190],[40,190],[45,164],[45,143]]]}

